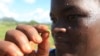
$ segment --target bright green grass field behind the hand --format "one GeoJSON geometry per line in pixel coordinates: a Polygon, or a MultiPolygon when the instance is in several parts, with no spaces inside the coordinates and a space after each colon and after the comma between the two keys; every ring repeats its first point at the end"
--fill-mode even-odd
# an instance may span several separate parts
{"type": "MultiPolygon", "coordinates": [[[[16,24],[14,23],[0,23],[0,40],[4,40],[6,32],[10,29],[15,29],[15,27],[16,24]]],[[[50,42],[50,48],[54,48],[54,41],[51,35],[49,42],[50,42]]]]}

